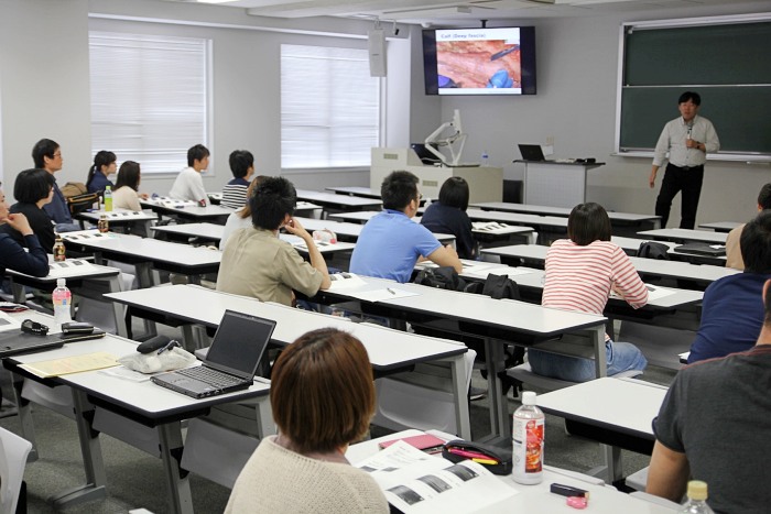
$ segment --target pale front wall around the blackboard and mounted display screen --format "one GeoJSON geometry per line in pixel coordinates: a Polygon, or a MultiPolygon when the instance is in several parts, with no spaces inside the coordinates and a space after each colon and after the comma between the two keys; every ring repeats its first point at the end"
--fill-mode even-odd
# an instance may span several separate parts
{"type": "MultiPolygon", "coordinates": [[[[656,188],[648,185],[651,160],[613,157],[616,83],[619,26],[623,21],[692,18],[756,12],[760,8],[709,8],[662,10],[651,14],[587,17],[558,20],[519,20],[535,25],[537,95],[520,98],[443,97],[442,119],[460,109],[469,139],[465,161],[479,160],[487,150],[492,164],[520,158],[518,143],[546,144],[555,139],[555,156],[597,157],[607,165],[589,173],[588,200],[608,209],[653,212],[656,188]]],[[[498,25],[498,23],[496,23],[498,25]]],[[[684,58],[684,63],[687,59],[684,58]]],[[[672,118],[678,116],[673,98],[672,118]]],[[[717,127],[718,135],[720,128],[717,127]]],[[[507,165],[521,176],[521,165],[507,165]]],[[[708,162],[697,222],[743,221],[756,214],[760,187],[771,181],[769,165],[708,162]]],[[[680,196],[670,226],[680,222],[680,196]]]]}

